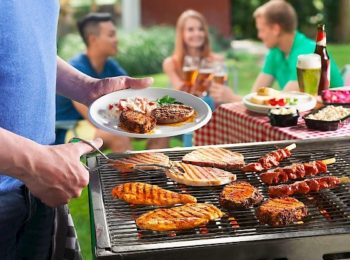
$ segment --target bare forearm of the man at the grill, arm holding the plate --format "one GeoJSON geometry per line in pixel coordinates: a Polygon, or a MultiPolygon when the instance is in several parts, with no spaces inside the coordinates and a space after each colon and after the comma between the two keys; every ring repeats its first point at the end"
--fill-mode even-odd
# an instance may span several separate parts
{"type": "Polygon", "coordinates": [[[96,79],[83,74],[73,66],[57,57],[57,93],[88,104],[91,91],[88,89],[96,79]]]}

